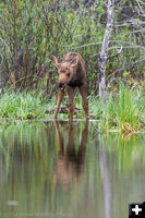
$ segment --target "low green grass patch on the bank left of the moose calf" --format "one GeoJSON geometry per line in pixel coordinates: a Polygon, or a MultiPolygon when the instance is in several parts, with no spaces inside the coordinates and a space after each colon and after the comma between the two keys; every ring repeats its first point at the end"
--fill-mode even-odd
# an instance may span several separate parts
{"type": "Polygon", "coordinates": [[[45,118],[45,110],[46,104],[40,95],[5,92],[0,96],[0,118],[22,120],[45,118]]]}

